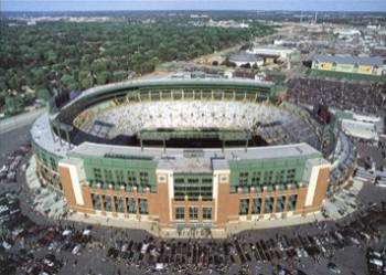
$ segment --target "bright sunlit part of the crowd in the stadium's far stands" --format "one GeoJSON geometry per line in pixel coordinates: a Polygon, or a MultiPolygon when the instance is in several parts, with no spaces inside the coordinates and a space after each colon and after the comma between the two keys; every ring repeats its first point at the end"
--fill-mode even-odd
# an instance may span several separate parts
{"type": "MultiPolygon", "coordinates": [[[[110,135],[133,135],[147,128],[234,128],[249,129],[291,119],[285,110],[242,102],[146,102],[121,105],[96,114],[95,121],[115,125],[110,135]]],[[[92,125],[93,127],[93,125],[92,125]]]]}

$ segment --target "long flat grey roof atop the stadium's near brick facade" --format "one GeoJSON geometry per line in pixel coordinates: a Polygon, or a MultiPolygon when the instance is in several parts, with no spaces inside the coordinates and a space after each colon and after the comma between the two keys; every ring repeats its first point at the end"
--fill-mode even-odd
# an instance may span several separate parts
{"type": "Polygon", "coordinates": [[[175,149],[154,147],[111,146],[84,142],[74,148],[72,154],[108,158],[109,156],[141,156],[149,160],[158,162],[158,169],[170,169],[175,172],[211,172],[213,169],[228,169],[229,160],[245,159],[281,159],[290,157],[302,157],[310,155],[320,155],[318,150],[308,144],[296,144],[285,146],[251,147],[245,148],[225,148],[222,149],[175,149]],[[193,154],[194,151],[194,154],[193,154]]]}

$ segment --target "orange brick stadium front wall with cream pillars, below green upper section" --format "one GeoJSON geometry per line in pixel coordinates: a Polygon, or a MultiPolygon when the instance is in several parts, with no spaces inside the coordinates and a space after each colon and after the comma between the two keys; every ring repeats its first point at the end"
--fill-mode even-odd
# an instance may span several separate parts
{"type": "MultiPolygon", "coordinates": [[[[271,171],[276,171],[274,174],[290,170],[291,166],[286,162],[287,160],[293,161],[293,157],[274,161],[271,165],[275,167],[271,171]]],[[[212,178],[210,198],[203,194],[190,198],[185,194],[182,199],[178,199],[174,180],[181,177],[173,170],[154,169],[156,182],[149,182],[152,188],[90,183],[85,172],[89,169],[85,167],[87,160],[82,158],[61,160],[58,173],[68,207],[76,212],[122,216],[138,222],[152,221],[157,222],[161,230],[189,226],[225,229],[232,221],[283,219],[320,211],[328,189],[330,165],[320,156],[310,155],[305,162],[309,160],[312,165],[303,162],[304,167],[301,167],[303,174],[299,182],[293,183],[296,180],[286,184],[267,182],[262,188],[257,183],[250,184],[247,189],[237,187],[235,190],[232,178],[243,173],[239,169],[213,170],[211,174],[194,172],[187,174],[187,179],[192,182],[197,178],[208,176],[212,178]],[[76,171],[79,174],[76,174],[76,171]],[[82,197],[82,200],[77,200],[76,195],[82,197]]],[[[294,161],[301,163],[302,158],[294,161]]],[[[100,163],[104,162],[105,160],[100,160],[100,163]]],[[[256,167],[259,167],[259,161],[255,162],[256,167]]],[[[142,170],[137,170],[137,174],[140,174],[140,171],[142,170]]],[[[261,170],[262,173],[267,171],[269,168],[261,170]]],[[[105,172],[109,173],[108,170],[105,172]]]]}

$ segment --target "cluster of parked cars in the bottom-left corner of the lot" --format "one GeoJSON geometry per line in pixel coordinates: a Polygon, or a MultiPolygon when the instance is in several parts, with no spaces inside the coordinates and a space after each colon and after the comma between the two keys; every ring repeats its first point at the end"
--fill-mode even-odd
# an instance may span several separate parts
{"type": "Polygon", "coordinates": [[[6,228],[8,234],[0,245],[0,274],[58,274],[66,264],[63,255],[77,257],[92,243],[92,228],[41,226],[23,215],[6,228]]]}

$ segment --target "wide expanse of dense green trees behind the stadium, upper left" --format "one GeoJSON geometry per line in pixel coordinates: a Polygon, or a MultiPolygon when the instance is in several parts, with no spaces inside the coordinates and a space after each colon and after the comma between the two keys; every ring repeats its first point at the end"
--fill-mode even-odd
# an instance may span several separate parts
{"type": "MultiPolygon", "coordinates": [[[[4,19],[0,24],[0,92],[24,95],[23,86],[28,85],[44,99],[54,88],[84,89],[121,81],[127,77],[124,72],[152,72],[160,63],[247,44],[274,30],[259,23],[250,23],[248,29],[202,28],[189,25],[189,17],[159,17],[154,24],[63,21],[14,28],[9,24],[12,20],[4,19]]],[[[9,99],[13,106],[12,101],[19,99],[9,99]]]]}

